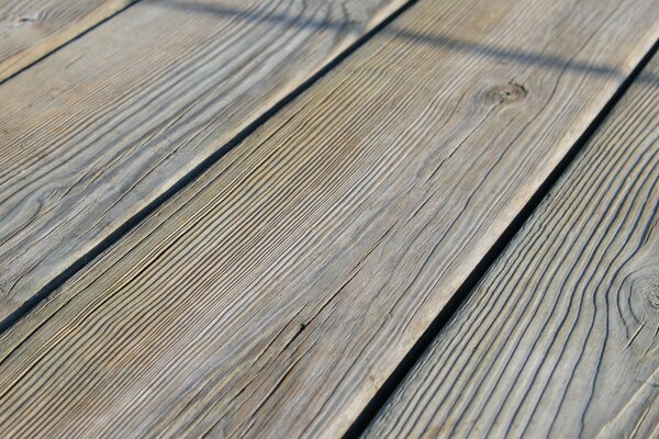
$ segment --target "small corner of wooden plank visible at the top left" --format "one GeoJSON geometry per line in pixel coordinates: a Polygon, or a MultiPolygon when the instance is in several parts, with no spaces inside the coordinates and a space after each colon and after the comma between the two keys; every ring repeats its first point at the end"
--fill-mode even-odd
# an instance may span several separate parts
{"type": "Polygon", "coordinates": [[[0,82],[133,1],[3,0],[0,2],[0,82]]]}

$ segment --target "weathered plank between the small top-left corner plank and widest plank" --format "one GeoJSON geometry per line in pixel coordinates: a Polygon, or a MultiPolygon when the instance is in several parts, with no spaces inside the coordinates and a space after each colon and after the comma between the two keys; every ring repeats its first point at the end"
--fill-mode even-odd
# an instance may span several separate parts
{"type": "Polygon", "coordinates": [[[0,319],[403,0],[145,0],[0,86],[0,319]]]}

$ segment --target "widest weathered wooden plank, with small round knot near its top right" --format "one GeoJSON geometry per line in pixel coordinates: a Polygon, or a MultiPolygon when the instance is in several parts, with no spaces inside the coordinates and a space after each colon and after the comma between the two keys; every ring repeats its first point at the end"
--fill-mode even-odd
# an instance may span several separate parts
{"type": "Polygon", "coordinates": [[[656,7],[416,3],[0,337],[0,436],[339,436],[656,7]]]}

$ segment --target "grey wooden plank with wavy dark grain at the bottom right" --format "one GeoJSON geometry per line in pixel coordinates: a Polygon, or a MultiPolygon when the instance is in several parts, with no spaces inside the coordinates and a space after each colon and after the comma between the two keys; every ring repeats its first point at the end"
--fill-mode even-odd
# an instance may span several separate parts
{"type": "Polygon", "coordinates": [[[659,56],[366,437],[659,435],[659,56]]]}

